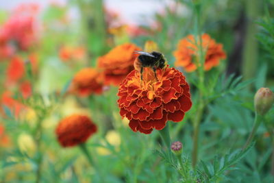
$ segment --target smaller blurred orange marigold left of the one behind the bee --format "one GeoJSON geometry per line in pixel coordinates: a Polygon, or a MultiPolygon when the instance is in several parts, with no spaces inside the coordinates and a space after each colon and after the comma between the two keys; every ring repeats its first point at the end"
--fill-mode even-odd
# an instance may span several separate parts
{"type": "Polygon", "coordinates": [[[92,93],[103,92],[103,75],[95,68],[85,68],[76,73],[72,83],[73,91],[79,95],[87,96],[92,93]]]}

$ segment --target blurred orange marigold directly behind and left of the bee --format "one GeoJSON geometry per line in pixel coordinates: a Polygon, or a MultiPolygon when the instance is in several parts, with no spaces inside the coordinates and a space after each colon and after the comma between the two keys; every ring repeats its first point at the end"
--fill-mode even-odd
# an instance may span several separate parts
{"type": "Polygon", "coordinates": [[[98,58],[98,66],[104,70],[105,85],[118,86],[134,70],[134,60],[138,55],[133,52],[137,50],[140,48],[136,45],[125,43],[98,58]]]}

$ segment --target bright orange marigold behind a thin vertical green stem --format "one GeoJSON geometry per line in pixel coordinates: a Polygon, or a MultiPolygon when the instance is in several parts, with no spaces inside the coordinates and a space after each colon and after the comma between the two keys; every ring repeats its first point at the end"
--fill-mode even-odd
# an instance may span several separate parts
{"type": "MultiPolygon", "coordinates": [[[[223,51],[223,45],[217,44],[208,34],[203,34],[201,38],[203,51],[206,54],[204,69],[209,71],[213,66],[218,66],[220,60],[225,59],[226,55],[223,51]]],[[[175,66],[182,66],[187,72],[195,71],[197,65],[194,59],[199,59],[198,49],[193,35],[188,35],[179,40],[177,50],[173,52],[176,58],[175,66]]]]}

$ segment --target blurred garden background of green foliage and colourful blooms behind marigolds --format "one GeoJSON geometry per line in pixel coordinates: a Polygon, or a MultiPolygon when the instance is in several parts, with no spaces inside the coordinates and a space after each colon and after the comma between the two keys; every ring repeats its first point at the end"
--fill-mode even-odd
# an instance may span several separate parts
{"type": "MultiPolygon", "coordinates": [[[[102,93],[82,96],[71,85],[79,71],[97,69],[99,58],[125,42],[144,49],[152,40],[175,66],[179,40],[197,30],[226,54],[205,71],[209,102],[201,114],[198,156],[212,162],[216,154],[240,149],[253,126],[254,93],[266,86],[274,90],[273,8],[273,0],[0,1],[0,183],[179,182],[153,151],[160,143],[156,130],[135,133],[121,119],[118,86],[105,84],[102,93]],[[79,148],[57,141],[56,126],[74,113],[98,125],[87,142],[98,167],[90,167],[79,148]]],[[[197,72],[177,69],[186,75],[193,104],[184,123],[171,124],[171,138],[183,142],[190,158],[190,122],[201,91],[197,72]]],[[[258,128],[256,146],[237,161],[239,170],[226,171],[216,182],[273,181],[273,119],[272,108],[258,128]]]]}

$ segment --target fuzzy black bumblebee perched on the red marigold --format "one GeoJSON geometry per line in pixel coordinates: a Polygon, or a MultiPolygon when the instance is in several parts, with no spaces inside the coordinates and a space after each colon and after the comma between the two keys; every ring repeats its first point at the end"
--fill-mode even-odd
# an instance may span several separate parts
{"type": "Polygon", "coordinates": [[[134,62],[134,67],[136,70],[140,71],[141,80],[144,67],[153,69],[155,78],[157,78],[156,69],[163,69],[164,66],[166,66],[166,58],[164,58],[164,55],[160,52],[152,51],[151,53],[147,53],[145,51],[134,51],[134,53],[140,54],[134,62]]]}

